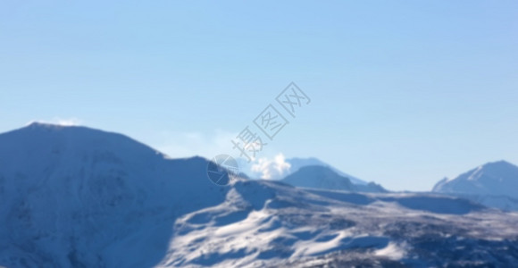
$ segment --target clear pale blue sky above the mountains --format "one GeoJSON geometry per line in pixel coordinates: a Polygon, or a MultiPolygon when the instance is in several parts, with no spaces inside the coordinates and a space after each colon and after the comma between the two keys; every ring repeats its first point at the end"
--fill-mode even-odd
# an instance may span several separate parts
{"type": "Polygon", "coordinates": [[[262,157],[389,189],[518,163],[516,1],[2,1],[0,131],[79,121],[171,156],[230,138],[295,81],[262,157]]]}

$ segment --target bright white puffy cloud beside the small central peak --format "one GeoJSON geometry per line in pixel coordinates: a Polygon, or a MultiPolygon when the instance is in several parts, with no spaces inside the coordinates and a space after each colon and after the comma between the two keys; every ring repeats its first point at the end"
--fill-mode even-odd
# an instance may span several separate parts
{"type": "Polygon", "coordinates": [[[273,158],[259,158],[252,164],[252,172],[259,173],[264,180],[280,180],[289,172],[291,165],[286,162],[286,157],[282,154],[275,155],[273,158]]]}

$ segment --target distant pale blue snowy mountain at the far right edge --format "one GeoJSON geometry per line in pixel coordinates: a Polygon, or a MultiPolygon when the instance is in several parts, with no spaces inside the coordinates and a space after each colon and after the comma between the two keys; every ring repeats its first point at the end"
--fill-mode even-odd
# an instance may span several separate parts
{"type": "Polygon", "coordinates": [[[518,210],[518,166],[505,161],[486,163],[453,180],[440,180],[432,191],[518,210]]]}

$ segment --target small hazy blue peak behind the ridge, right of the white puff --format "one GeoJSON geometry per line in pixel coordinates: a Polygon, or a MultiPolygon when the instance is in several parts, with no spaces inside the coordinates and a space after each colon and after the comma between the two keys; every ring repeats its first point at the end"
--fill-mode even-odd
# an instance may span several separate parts
{"type": "Polygon", "coordinates": [[[298,169],[297,172],[288,175],[280,181],[303,188],[338,189],[374,193],[387,192],[387,190],[380,185],[372,182],[368,184],[355,184],[347,177],[339,175],[330,167],[323,165],[303,166],[298,169]]]}

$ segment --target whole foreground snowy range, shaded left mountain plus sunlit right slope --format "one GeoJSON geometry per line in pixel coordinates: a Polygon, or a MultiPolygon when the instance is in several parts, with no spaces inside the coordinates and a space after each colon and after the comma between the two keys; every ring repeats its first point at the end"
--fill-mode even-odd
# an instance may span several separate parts
{"type": "Polygon", "coordinates": [[[0,134],[0,266],[512,266],[518,214],[457,197],[208,180],[120,134],[0,134]],[[490,228],[489,228],[490,227],[490,228]]]}

